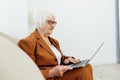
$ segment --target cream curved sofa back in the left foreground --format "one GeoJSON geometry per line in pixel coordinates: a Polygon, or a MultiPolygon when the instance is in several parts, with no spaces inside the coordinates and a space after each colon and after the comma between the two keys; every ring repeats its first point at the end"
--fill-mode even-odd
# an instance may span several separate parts
{"type": "Polygon", "coordinates": [[[0,35],[0,80],[45,80],[30,57],[3,35],[0,35]]]}

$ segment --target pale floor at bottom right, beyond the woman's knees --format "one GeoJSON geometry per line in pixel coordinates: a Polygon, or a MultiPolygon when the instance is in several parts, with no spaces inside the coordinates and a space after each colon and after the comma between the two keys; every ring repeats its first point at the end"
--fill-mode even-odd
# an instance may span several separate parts
{"type": "Polygon", "coordinates": [[[94,80],[120,80],[120,64],[93,66],[94,80]]]}

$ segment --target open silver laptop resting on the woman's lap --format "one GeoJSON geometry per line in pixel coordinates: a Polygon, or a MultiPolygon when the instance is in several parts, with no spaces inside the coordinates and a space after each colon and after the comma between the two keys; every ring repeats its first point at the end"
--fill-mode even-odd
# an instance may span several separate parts
{"type": "Polygon", "coordinates": [[[81,60],[79,63],[72,63],[72,64],[67,64],[66,66],[71,66],[73,68],[79,68],[79,67],[84,67],[86,66],[91,60],[92,58],[97,54],[97,52],[101,49],[101,47],[104,45],[104,42],[101,43],[101,45],[97,48],[97,50],[95,51],[95,53],[92,55],[92,57],[90,59],[86,59],[86,60],[81,60]]]}

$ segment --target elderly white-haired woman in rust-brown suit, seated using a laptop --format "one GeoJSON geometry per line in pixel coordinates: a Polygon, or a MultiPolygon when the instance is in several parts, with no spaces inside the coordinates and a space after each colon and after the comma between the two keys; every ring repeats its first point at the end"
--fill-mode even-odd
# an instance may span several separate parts
{"type": "Polygon", "coordinates": [[[56,23],[55,16],[51,12],[40,12],[35,22],[35,31],[25,39],[21,39],[19,47],[37,64],[46,80],[93,80],[90,64],[76,69],[64,66],[78,63],[79,60],[65,56],[59,42],[50,36],[56,23]]]}

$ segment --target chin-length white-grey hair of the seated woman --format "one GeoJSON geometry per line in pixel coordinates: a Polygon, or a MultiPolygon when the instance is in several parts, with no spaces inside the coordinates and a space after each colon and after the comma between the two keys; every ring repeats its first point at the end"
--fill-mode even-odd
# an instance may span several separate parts
{"type": "Polygon", "coordinates": [[[53,13],[49,11],[40,11],[36,14],[36,17],[34,18],[34,27],[35,28],[42,28],[45,26],[46,20],[48,18],[55,17],[53,13]]]}

